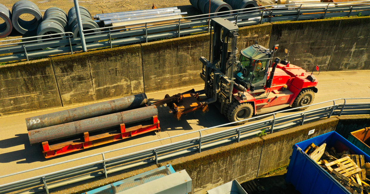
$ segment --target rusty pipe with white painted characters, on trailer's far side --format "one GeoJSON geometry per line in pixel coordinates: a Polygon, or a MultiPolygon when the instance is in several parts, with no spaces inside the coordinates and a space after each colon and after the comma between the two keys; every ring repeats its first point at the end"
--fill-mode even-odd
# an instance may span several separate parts
{"type": "Polygon", "coordinates": [[[105,114],[117,113],[124,110],[131,110],[142,107],[147,103],[148,98],[144,93],[142,93],[134,96],[58,111],[55,113],[30,117],[26,118],[27,130],[29,131],[87,118],[98,117],[105,114]]]}

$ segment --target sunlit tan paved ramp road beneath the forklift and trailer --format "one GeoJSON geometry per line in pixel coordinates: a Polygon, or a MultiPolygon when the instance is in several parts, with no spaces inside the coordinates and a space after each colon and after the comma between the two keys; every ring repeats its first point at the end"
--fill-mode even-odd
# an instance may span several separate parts
{"type": "MultiPolygon", "coordinates": [[[[341,71],[341,72],[322,72],[317,76],[319,84],[317,86],[319,92],[316,94],[314,103],[320,103],[323,101],[333,100],[336,98],[360,98],[370,97],[370,71],[341,71]]],[[[195,90],[201,90],[203,86],[194,87],[195,90]]],[[[165,94],[170,96],[176,93],[181,93],[189,90],[189,88],[178,88],[171,91],[150,93],[147,94],[150,101],[160,100],[165,94]]],[[[351,100],[349,102],[363,102],[368,100],[351,100]]],[[[343,101],[338,101],[341,103],[343,101]]],[[[320,104],[309,109],[329,106],[332,103],[320,104]]],[[[70,107],[69,107],[70,108],[70,107]]],[[[228,123],[228,120],[218,112],[218,109],[212,104],[209,105],[209,112],[202,114],[200,112],[189,113],[183,116],[180,121],[176,120],[172,114],[168,113],[167,107],[159,108],[159,121],[161,124],[161,132],[150,132],[142,134],[134,138],[128,138],[123,141],[116,143],[110,143],[101,145],[95,148],[90,148],[75,153],[62,155],[50,159],[45,159],[41,154],[41,149],[37,145],[31,146],[28,140],[27,128],[25,118],[37,116],[41,114],[51,113],[54,111],[65,110],[68,108],[59,108],[57,110],[42,111],[38,113],[27,113],[22,115],[10,116],[0,118],[0,176],[16,173],[19,171],[41,167],[48,164],[54,164],[61,161],[71,160],[95,153],[101,153],[103,151],[113,150],[128,145],[134,145],[142,142],[157,140],[159,138],[165,138],[178,134],[187,133],[189,131],[196,131],[202,128],[213,127],[221,124],[228,123]]],[[[307,109],[307,110],[309,110],[307,109]]],[[[278,116],[283,116],[292,113],[280,113],[278,116]]],[[[267,119],[267,118],[264,118],[267,119]]],[[[216,131],[225,130],[227,127],[213,128],[211,130],[204,131],[202,134],[214,133],[216,131]]],[[[105,158],[114,157],[117,155],[127,154],[135,151],[144,150],[150,147],[168,144],[171,142],[196,137],[199,133],[189,134],[177,138],[171,138],[164,141],[158,141],[156,143],[141,145],[121,151],[108,153],[105,158]]],[[[76,165],[82,165],[90,163],[95,160],[101,160],[100,156],[74,161],[68,164],[57,165],[54,167],[44,168],[41,170],[33,171],[30,173],[24,173],[22,175],[14,175],[7,178],[0,179],[0,184],[10,183],[13,181],[21,180],[24,178],[33,177],[36,175],[46,174],[65,168],[70,168],[76,165]]]]}

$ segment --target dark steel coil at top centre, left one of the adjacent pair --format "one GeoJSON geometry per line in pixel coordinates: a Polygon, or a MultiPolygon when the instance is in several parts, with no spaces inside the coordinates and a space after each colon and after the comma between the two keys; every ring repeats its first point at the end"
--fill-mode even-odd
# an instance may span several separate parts
{"type": "Polygon", "coordinates": [[[190,3],[203,14],[230,11],[232,7],[221,0],[191,0],[190,3]],[[210,2],[211,1],[211,4],[210,2]]]}

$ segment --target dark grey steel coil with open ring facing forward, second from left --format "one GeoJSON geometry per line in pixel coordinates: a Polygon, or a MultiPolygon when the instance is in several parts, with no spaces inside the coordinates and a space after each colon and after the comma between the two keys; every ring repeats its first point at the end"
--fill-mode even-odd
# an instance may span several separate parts
{"type": "Polygon", "coordinates": [[[36,34],[38,25],[43,21],[41,11],[36,4],[31,1],[21,0],[14,3],[11,11],[11,21],[14,29],[21,34],[36,34]],[[30,21],[22,20],[20,19],[22,14],[31,14],[34,16],[34,19],[30,21]]]}

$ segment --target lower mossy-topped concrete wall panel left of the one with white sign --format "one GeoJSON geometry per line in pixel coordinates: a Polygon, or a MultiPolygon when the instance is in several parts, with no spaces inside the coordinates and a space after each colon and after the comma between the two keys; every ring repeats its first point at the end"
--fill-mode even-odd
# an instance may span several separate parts
{"type": "Polygon", "coordinates": [[[262,144],[260,138],[252,138],[179,158],[171,161],[171,165],[175,171],[186,170],[192,179],[194,193],[206,193],[234,179],[240,183],[254,179],[262,144]]]}

